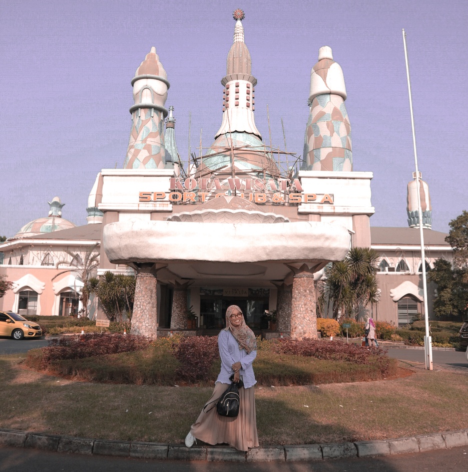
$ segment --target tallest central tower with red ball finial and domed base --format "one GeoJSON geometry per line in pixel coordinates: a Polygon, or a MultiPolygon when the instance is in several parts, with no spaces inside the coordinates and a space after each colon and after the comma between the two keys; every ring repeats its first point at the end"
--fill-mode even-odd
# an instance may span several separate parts
{"type": "Polygon", "coordinates": [[[237,9],[233,17],[236,20],[234,41],[227,56],[226,75],[221,80],[224,87],[223,119],[215,142],[203,157],[197,175],[216,172],[220,177],[241,176],[245,171],[249,177],[277,177],[278,167],[255,125],[257,79],[252,75],[252,60],[244,42],[242,20],[245,15],[237,9]]]}

